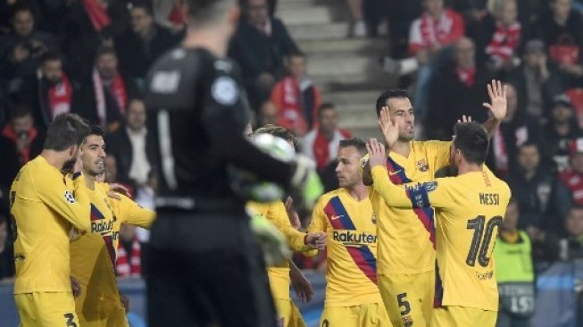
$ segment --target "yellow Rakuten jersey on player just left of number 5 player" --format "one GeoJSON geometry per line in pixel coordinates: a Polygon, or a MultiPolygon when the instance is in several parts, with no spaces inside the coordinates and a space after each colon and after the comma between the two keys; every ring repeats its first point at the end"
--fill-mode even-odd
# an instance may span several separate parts
{"type": "Polygon", "coordinates": [[[377,287],[377,218],[371,201],[357,201],[346,189],[320,197],[308,231],[328,234],[324,306],[381,303],[377,287]]]}

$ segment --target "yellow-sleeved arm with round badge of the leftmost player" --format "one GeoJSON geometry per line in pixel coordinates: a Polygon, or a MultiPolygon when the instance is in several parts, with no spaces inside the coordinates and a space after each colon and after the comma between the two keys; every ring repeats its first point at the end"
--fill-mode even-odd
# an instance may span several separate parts
{"type": "Polygon", "coordinates": [[[71,224],[79,231],[88,231],[91,228],[90,205],[89,197],[87,195],[87,187],[85,185],[85,178],[81,174],[82,162],[81,155],[77,158],[75,163],[74,173],[72,176],[74,194],[67,189],[62,182],[63,179],[68,180],[69,177],[57,176],[55,174],[45,174],[42,180],[34,180],[35,188],[37,189],[38,197],[63,219],[71,222],[71,224]]]}

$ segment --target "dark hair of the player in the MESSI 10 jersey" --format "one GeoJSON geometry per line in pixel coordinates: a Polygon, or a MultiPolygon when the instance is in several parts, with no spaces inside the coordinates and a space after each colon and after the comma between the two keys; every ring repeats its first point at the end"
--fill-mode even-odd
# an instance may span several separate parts
{"type": "Polygon", "coordinates": [[[490,140],[487,131],[478,122],[456,123],[454,147],[471,164],[484,164],[490,140]]]}

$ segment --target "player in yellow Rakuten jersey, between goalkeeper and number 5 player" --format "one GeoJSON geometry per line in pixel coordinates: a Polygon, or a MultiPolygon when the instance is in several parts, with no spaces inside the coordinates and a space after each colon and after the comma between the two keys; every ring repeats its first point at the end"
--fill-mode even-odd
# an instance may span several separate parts
{"type": "Polygon", "coordinates": [[[321,327],[392,326],[377,287],[377,216],[362,182],[365,143],[340,141],[340,189],[320,197],[308,231],[328,234],[326,300],[321,327]]]}

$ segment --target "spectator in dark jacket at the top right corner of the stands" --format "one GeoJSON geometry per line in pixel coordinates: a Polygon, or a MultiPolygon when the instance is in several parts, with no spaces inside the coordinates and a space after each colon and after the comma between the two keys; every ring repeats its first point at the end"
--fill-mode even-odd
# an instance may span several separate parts
{"type": "Polygon", "coordinates": [[[550,59],[559,65],[565,88],[581,86],[583,19],[571,9],[571,0],[551,0],[550,7],[537,21],[537,36],[549,46],[550,59]]]}

